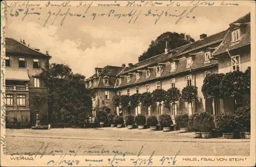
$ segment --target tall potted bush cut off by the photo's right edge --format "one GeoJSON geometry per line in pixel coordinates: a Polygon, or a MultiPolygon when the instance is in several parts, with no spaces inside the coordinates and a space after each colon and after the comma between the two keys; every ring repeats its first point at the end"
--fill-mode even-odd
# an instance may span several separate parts
{"type": "Polygon", "coordinates": [[[250,139],[250,131],[251,131],[251,107],[250,105],[243,106],[238,108],[235,111],[237,115],[238,122],[238,130],[240,131],[240,135],[244,136],[241,138],[250,139]],[[244,134],[244,135],[242,135],[244,134]]]}

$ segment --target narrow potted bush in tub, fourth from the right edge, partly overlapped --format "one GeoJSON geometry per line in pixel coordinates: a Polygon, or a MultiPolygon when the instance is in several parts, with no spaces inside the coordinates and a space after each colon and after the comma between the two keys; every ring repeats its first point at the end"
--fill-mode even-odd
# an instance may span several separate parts
{"type": "Polygon", "coordinates": [[[196,138],[201,138],[202,134],[200,132],[200,125],[199,125],[199,112],[195,112],[189,116],[188,120],[188,128],[191,131],[194,131],[196,133],[196,138]]]}

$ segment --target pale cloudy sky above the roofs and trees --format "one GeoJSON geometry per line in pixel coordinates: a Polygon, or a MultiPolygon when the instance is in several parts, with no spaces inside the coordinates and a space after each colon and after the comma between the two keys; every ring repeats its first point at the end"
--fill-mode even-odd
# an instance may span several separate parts
{"type": "MultiPolygon", "coordinates": [[[[141,7],[142,13],[165,10],[166,7],[141,7]]],[[[89,78],[95,67],[105,65],[121,66],[125,63],[137,63],[138,57],[146,51],[152,40],[160,34],[171,31],[185,33],[199,39],[200,34],[212,35],[224,31],[229,23],[249,13],[248,7],[197,7],[189,18],[175,23],[173,17],[161,16],[155,24],[156,17],[140,15],[136,22],[129,23],[130,18],[116,19],[113,17],[96,17],[92,20],[91,13],[115,12],[128,13],[125,7],[90,7],[86,18],[67,16],[63,25],[63,16],[51,17],[44,27],[48,12],[57,13],[60,8],[48,7],[40,9],[40,16],[27,15],[22,20],[22,13],[17,17],[8,16],[6,21],[6,36],[16,40],[24,39],[31,47],[40,52],[49,52],[50,62],[70,65],[74,73],[80,73],[89,78]],[[191,16],[194,16],[192,18],[191,16]]],[[[66,9],[66,8],[65,8],[66,9]]],[[[64,12],[64,8],[61,10],[64,12]]],[[[133,8],[134,11],[137,8],[133,8]]],[[[185,7],[172,8],[172,12],[183,11],[185,7]],[[178,10],[178,11],[177,11],[178,10]]],[[[36,11],[35,8],[34,11],[36,11]]],[[[39,9],[38,9],[39,10],[39,9]]],[[[87,7],[71,8],[72,13],[85,13],[87,7]]],[[[11,9],[8,9],[8,12],[11,9]]],[[[67,9],[66,9],[67,11],[67,9]]],[[[32,12],[31,8],[30,11],[32,12]]],[[[164,51],[163,51],[164,52],[164,51]]]]}

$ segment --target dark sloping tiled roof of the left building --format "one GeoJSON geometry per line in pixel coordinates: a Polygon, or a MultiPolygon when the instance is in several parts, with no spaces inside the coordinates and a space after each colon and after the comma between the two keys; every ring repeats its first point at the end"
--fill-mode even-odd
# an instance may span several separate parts
{"type": "Polygon", "coordinates": [[[51,57],[49,55],[38,52],[32,47],[29,47],[13,38],[6,38],[6,52],[51,57]]]}

